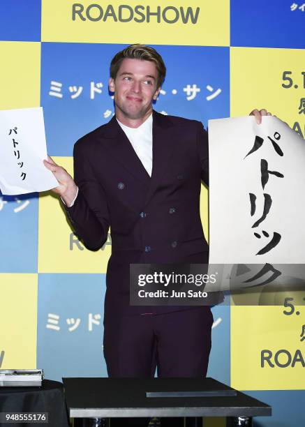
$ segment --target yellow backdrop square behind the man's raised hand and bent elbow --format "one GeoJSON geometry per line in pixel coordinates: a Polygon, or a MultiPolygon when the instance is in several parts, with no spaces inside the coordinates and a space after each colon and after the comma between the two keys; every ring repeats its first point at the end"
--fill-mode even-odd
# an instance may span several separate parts
{"type": "MultiPolygon", "coordinates": [[[[53,160],[73,175],[73,158],[54,157],[53,160]]],[[[110,253],[109,238],[101,250],[93,252],[85,248],[70,228],[59,197],[51,192],[40,195],[39,273],[105,273],[110,253]]]]}

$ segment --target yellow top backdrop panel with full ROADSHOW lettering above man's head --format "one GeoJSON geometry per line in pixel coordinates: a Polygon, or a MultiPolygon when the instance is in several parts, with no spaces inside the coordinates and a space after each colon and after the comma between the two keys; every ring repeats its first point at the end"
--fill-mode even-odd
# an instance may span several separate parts
{"type": "Polygon", "coordinates": [[[42,5],[43,41],[230,45],[229,0],[43,0],[42,5]]]}

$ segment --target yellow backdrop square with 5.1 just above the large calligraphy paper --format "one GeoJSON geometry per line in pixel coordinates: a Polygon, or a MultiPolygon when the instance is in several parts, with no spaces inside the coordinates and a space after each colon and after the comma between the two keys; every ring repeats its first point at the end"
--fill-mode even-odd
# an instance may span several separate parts
{"type": "Polygon", "coordinates": [[[231,116],[267,108],[304,137],[304,63],[302,49],[231,47],[231,116]]]}

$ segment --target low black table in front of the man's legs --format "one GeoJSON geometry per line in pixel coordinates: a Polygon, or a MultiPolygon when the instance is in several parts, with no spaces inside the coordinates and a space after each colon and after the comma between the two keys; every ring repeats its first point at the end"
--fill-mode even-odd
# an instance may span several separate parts
{"type": "Polygon", "coordinates": [[[212,378],[63,378],[63,381],[71,418],[271,415],[269,405],[212,378]],[[179,392],[179,396],[172,396],[172,392],[179,392]],[[190,397],[183,396],[185,392],[190,397]],[[159,393],[161,397],[155,397],[159,393]],[[151,394],[154,397],[149,397],[151,394]],[[200,397],[193,397],[194,394],[200,397]]]}

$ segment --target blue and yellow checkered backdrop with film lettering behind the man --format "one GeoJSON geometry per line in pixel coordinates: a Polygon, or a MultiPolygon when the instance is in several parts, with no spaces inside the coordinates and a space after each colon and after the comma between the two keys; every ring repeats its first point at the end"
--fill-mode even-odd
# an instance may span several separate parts
{"type": "MultiPolygon", "coordinates": [[[[302,1],[1,0],[0,6],[0,109],[42,105],[48,152],[68,171],[75,140],[114,114],[109,63],[130,43],[154,45],[165,59],[157,111],[207,126],[208,119],[266,107],[304,136],[302,1]]],[[[204,188],[201,211],[207,234],[204,188]]],[[[110,239],[97,253],[85,249],[48,193],[0,195],[0,232],[1,368],[38,366],[55,380],[107,375],[110,239]]],[[[305,307],[299,315],[284,315],[283,306],[213,310],[209,375],[272,405],[273,417],[257,425],[304,426],[305,307]],[[270,363],[261,362],[262,350],[271,352],[270,363]]]]}

